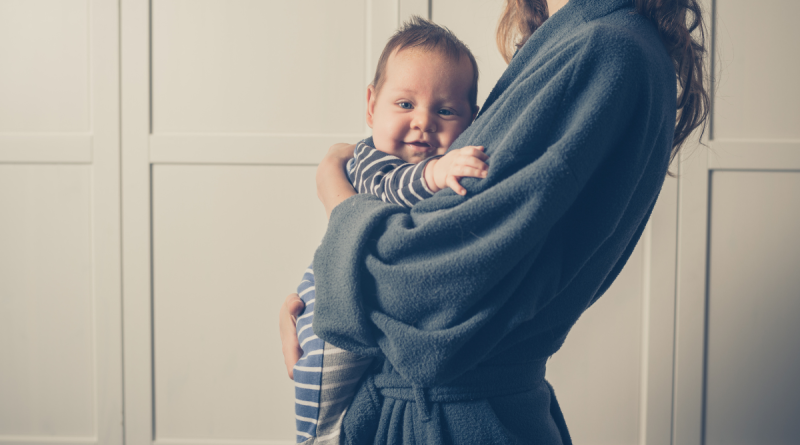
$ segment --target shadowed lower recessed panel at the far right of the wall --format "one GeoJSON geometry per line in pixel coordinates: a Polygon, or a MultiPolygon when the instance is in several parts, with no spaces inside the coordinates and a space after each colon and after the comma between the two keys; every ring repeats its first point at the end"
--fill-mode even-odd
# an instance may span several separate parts
{"type": "Polygon", "coordinates": [[[711,181],[705,444],[800,437],[800,172],[711,181]]]}

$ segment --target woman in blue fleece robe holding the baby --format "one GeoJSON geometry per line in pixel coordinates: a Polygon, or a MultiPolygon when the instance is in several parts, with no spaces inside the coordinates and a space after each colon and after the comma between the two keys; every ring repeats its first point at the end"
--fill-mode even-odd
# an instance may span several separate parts
{"type": "MultiPolygon", "coordinates": [[[[498,46],[508,69],[451,146],[489,155],[467,196],[409,211],[319,190],[332,213],[314,331],[382,359],[343,443],[570,443],[546,360],[624,266],[705,121],[696,0],[508,0],[498,46]]],[[[289,370],[299,306],[290,295],[281,311],[289,370]]]]}

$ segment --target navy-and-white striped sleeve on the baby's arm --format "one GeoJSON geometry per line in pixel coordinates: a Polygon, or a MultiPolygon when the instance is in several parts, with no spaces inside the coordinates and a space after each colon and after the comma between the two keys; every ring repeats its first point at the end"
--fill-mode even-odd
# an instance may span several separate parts
{"type": "Polygon", "coordinates": [[[383,202],[411,207],[433,196],[423,172],[431,159],[439,157],[409,164],[362,141],[356,145],[350,178],[358,193],[369,193],[383,202]]]}

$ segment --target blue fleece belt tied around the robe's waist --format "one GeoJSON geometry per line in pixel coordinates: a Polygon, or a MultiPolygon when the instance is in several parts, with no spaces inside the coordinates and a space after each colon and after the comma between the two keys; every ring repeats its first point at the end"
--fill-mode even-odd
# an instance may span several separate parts
{"type": "Polygon", "coordinates": [[[547,358],[524,363],[483,363],[444,385],[423,387],[396,372],[372,376],[372,384],[384,397],[414,402],[422,421],[431,418],[431,403],[490,399],[533,390],[544,384],[547,358]]]}

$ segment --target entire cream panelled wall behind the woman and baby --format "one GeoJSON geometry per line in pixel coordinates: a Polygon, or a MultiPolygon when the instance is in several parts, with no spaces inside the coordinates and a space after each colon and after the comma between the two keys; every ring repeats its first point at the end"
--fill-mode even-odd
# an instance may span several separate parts
{"type": "MultiPolygon", "coordinates": [[[[800,435],[800,9],[750,3],[704,3],[709,148],[549,363],[575,443],[800,435]]],[[[412,14],[482,101],[502,6],[0,0],[0,444],[292,443],[275,320],[325,229],[315,164],[368,134],[412,14]]]]}

